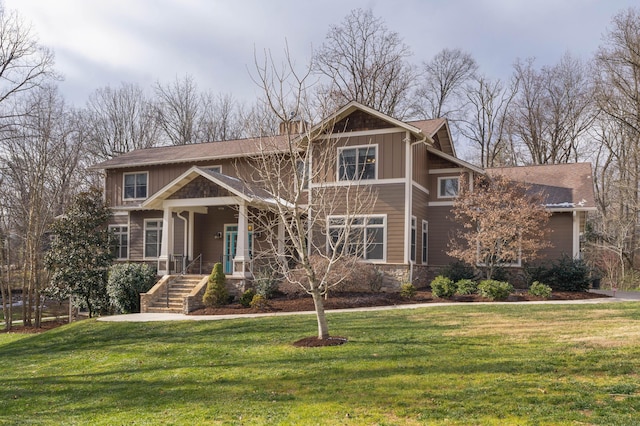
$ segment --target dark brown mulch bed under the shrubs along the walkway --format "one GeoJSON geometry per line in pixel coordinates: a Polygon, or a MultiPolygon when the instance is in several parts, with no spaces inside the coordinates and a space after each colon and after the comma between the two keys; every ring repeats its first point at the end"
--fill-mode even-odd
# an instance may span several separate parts
{"type": "MultiPolygon", "coordinates": [[[[549,300],[576,300],[594,299],[606,297],[600,294],[587,292],[555,292],[549,300]]],[[[527,293],[517,293],[509,296],[507,302],[526,302],[544,300],[540,297],[533,297],[527,293]]],[[[412,299],[404,299],[398,293],[333,293],[324,301],[325,309],[348,309],[362,308],[370,306],[395,306],[415,303],[436,303],[436,302],[490,302],[489,299],[479,295],[455,296],[452,299],[439,299],[433,297],[429,291],[418,291],[412,299]]],[[[248,314],[260,312],[300,312],[313,311],[313,300],[310,296],[300,297],[275,297],[269,300],[268,306],[264,309],[245,308],[239,303],[226,306],[198,309],[191,312],[191,315],[227,315],[227,314],[248,314]]]]}

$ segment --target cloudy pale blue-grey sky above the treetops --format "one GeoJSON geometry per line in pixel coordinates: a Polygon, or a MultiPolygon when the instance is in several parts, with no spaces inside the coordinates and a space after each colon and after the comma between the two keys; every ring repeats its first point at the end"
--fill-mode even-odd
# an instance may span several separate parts
{"type": "MultiPolygon", "coordinates": [[[[1,1],[1,0],[0,0],[1,1]]],[[[251,102],[254,51],[304,64],[331,25],[371,8],[420,64],[461,48],[490,77],[507,78],[516,58],[554,64],[565,52],[590,57],[611,18],[638,0],[4,0],[52,48],[67,101],[97,88],[145,89],[191,75],[201,90],[251,102]]]]}

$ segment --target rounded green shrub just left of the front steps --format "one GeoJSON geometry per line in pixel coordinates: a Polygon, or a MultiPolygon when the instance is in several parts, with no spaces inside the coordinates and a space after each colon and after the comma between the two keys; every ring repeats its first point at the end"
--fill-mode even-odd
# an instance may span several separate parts
{"type": "Polygon", "coordinates": [[[109,303],[120,313],[140,312],[140,293],[153,287],[156,271],[146,263],[121,263],[109,268],[109,303]]]}

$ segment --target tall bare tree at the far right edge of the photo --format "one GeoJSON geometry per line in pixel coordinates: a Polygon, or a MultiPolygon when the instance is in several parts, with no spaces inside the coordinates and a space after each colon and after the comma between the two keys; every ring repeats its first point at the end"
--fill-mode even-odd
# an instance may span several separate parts
{"type": "Polygon", "coordinates": [[[623,271],[638,267],[639,52],[640,11],[628,9],[613,18],[596,54],[595,98],[600,116],[593,132],[600,143],[595,178],[602,214],[596,223],[596,244],[616,253],[623,271]]]}

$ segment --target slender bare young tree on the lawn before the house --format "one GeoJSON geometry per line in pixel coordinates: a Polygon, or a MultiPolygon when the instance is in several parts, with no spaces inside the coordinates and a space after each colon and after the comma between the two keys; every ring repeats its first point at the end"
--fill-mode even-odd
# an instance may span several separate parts
{"type": "Polygon", "coordinates": [[[265,105],[282,123],[280,136],[257,139],[259,154],[251,158],[246,176],[272,195],[268,208],[254,211],[256,230],[263,234],[261,251],[269,258],[266,264],[312,296],[318,338],[326,339],[323,296],[339,284],[331,272],[368,250],[360,221],[376,194],[358,177],[336,184],[336,147],[345,140],[331,138],[335,123],[307,124],[316,118],[307,96],[309,70],[300,74],[290,61],[278,68],[270,57],[256,61],[256,70],[265,105]]]}

